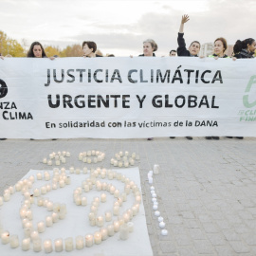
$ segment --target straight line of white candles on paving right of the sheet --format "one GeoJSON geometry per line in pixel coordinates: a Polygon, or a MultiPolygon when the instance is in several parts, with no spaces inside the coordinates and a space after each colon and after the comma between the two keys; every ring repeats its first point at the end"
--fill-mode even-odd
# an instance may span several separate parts
{"type": "MultiPolygon", "coordinates": [[[[149,184],[153,183],[153,174],[159,174],[159,165],[155,164],[153,170],[154,171],[149,171],[148,173],[148,180],[149,180],[149,184]]],[[[155,193],[155,187],[151,186],[150,187],[150,192],[151,192],[151,196],[152,196],[152,203],[153,203],[153,210],[155,210],[155,217],[157,217],[158,220],[158,225],[159,228],[161,229],[161,234],[162,235],[168,235],[168,230],[164,229],[166,224],[164,222],[164,218],[162,216],[160,216],[160,211],[158,210],[158,202],[157,202],[157,195],[155,193]]]]}

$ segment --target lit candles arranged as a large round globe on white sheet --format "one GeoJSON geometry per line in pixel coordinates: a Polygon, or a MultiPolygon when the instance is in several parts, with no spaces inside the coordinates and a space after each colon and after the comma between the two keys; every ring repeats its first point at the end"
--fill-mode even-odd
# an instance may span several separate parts
{"type": "MultiPolygon", "coordinates": [[[[69,170],[70,174],[74,174],[74,170],[69,170]]],[[[83,168],[83,173],[87,174],[87,168],[83,168]]],[[[9,201],[10,195],[14,192],[22,192],[24,196],[24,202],[20,209],[20,217],[22,220],[22,225],[24,228],[25,238],[22,241],[22,249],[28,250],[30,248],[30,244],[33,245],[34,251],[42,250],[42,240],[39,237],[39,233],[42,233],[46,230],[47,227],[51,227],[53,223],[64,219],[66,214],[66,206],[65,204],[54,204],[48,198],[42,197],[42,194],[46,194],[46,192],[50,192],[51,190],[56,190],[59,188],[63,188],[65,185],[69,185],[71,183],[70,176],[66,176],[65,169],[62,168],[59,170],[58,168],[54,168],[52,183],[48,183],[41,188],[36,188],[33,190],[33,194],[30,194],[29,189],[32,188],[32,184],[34,183],[35,177],[33,175],[29,176],[28,179],[18,181],[14,187],[9,187],[8,190],[5,190],[4,196],[0,197],[0,205],[4,202],[9,201]],[[9,197],[7,196],[9,195],[9,197]],[[34,204],[35,197],[37,197],[37,205],[44,206],[48,211],[53,211],[53,213],[49,216],[46,216],[46,221],[40,221],[37,224],[37,229],[33,229],[32,219],[33,214],[30,209],[31,204],[34,204]]],[[[77,173],[77,172],[76,172],[77,173]]],[[[36,178],[38,180],[46,180],[49,181],[51,179],[50,174],[48,172],[37,173],[36,178]]],[[[106,202],[106,194],[101,193],[100,197],[94,198],[91,205],[91,212],[89,213],[89,222],[91,226],[102,227],[99,231],[96,231],[94,234],[88,234],[84,237],[78,236],[76,237],[76,248],[81,249],[82,247],[91,247],[93,244],[99,245],[101,241],[106,240],[108,236],[113,236],[115,232],[119,232],[119,237],[122,240],[126,240],[128,238],[129,232],[132,232],[134,229],[134,225],[131,222],[132,218],[137,215],[139,211],[139,204],[141,202],[141,194],[137,185],[134,181],[131,181],[123,174],[119,174],[117,172],[107,171],[106,169],[91,169],[90,177],[82,182],[82,187],[77,188],[74,191],[73,197],[76,205],[87,205],[86,197],[81,197],[82,189],[84,192],[89,192],[93,187],[96,188],[97,191],[106,191],[113,194],[117,201],[113,206],[113,214],[111,211],[105,212],[105,221],[111,221],[112,215],[116,215],[118,217],[117,220],[113,222],[113,224],[108,225],[106,228],[103,228],[103,217],[97,217],[98,206],[101,202],[106,202]],[[124,183],[124,192],[120,193],[112,184],[107,184],[106,182],[101,182],[96,178],[108,178],[118,179],[122,183],[124,183]],[[126,210],[122,215],[119,215],[119,208],[122,205],[122,202],[126,201],[126,196],[133,192],[136,197],[136,202],[134,206],[126,210]],[[78,199],[80,198],[80,199],[78,199]]],[[[4,231],[0,229],[2,244],[9,244],[10,247],[15,248],[19,247],[19,239],[17,235],[9,235],[9,231],[4,231]]],[[[63,239],[58,238],[54,241],[55,251],[62,251],[64,249],[66,251],[71,251],[74,248],[73,238],[66,238],[63,242],[63,239]]],[[[44,249],[46,252],[51,252],[52,242],[51,240],[46,240],[44,242],[44,249]]]]}

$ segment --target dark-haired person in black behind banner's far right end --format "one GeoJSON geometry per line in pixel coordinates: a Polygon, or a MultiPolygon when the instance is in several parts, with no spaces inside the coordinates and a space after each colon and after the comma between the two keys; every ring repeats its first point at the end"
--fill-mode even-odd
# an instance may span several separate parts
{"type": "Polygon", "coordinates": [[[237,59],[252,59],[256,50],[256,42],[253,38],[247,38],[244,41],[237,40],[233,53],[237,59]]]}

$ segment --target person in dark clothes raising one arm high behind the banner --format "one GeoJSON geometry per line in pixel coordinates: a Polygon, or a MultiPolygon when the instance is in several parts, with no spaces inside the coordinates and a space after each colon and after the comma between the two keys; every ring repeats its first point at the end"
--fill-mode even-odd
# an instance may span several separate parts
{"type": "MultiPolygon", "coordinates": [[[[200,50],[200,43],[198,41],[193,41],[189,50],[186,48],[186,43],[184,39],[184,24],[190,20],[188,14],[185,14],[181,18],[181,23],[178,31],[178,38],[177,38],[177,55],[179,57],[198,57],[198,53],[200,50]]],[[[192,139],[192,137],[188,136],[187,139],[192,139]]]]}

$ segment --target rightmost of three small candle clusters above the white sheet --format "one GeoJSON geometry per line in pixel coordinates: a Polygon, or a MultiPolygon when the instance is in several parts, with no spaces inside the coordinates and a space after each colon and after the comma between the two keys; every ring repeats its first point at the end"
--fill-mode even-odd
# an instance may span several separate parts
{"type": "Polygon", "coordinates": [[[135,165],[135,160],[139,160],[139,155],[136,153],[130,153],[125,151],[124,153],[120,151],[119,153],[115,154],[115,157],[110,159],[110,164],[115,167],[129,167],[130,165],[135,165]]]}

